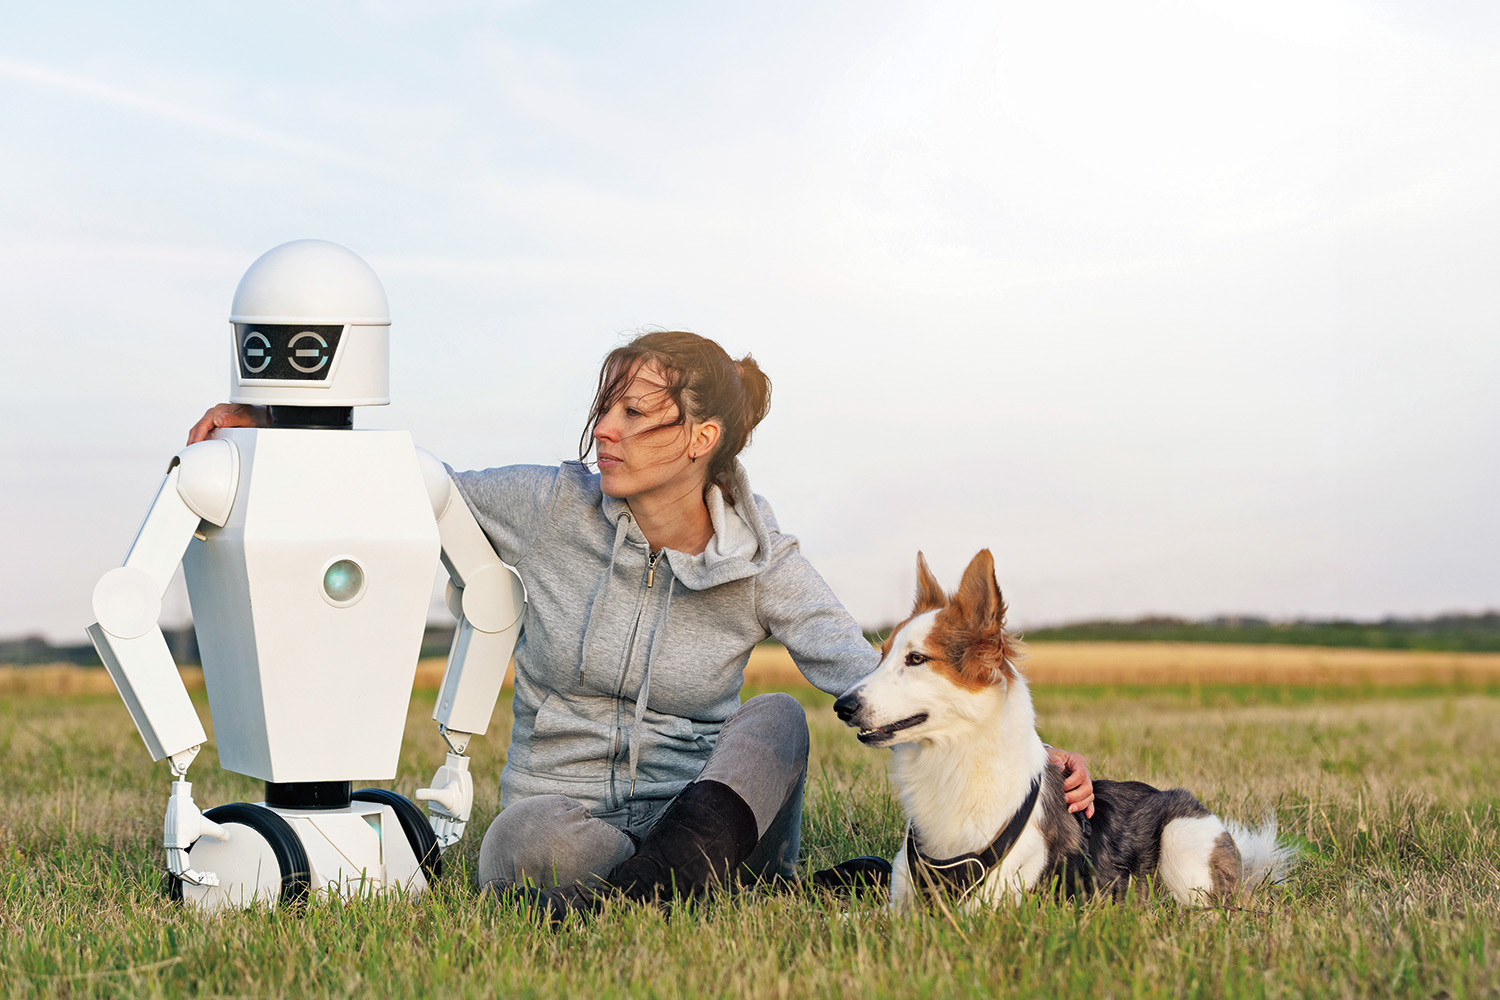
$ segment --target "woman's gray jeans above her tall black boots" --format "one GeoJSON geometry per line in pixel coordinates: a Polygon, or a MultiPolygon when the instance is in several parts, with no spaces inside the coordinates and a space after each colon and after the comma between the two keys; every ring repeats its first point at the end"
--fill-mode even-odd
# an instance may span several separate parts
{"type": "MultiPolygon", "coordinates": [[[[746,868],[754,877],[790,876],[802,837],[807,715],[789,694],[760,694],[729,717],[698,775],[729,786],[754,813],[759,841],[746,868]]],[[[478,850],[478,885],[530,879],[549,888],[603,877],[636,853],[669,799],[632,799],[594,816],[566,795],[514,802],[489,825],[478,850]],[[632,840],[634,838],[634,840],[632,840]]]]}

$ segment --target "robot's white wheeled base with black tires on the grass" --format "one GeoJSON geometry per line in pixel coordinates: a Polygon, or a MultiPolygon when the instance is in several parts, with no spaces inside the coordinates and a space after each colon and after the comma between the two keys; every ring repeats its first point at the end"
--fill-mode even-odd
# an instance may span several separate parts
{"type": "Polygon", "coordinates": [[[188,852],[218,886],[171,879],[171,895],[208,913],[250,906],[300,907],[312,894],[360,898],[420,895],[442,874],[436,838],[410,799],[362,789],[333,810],[232,802],[204,816],[230,840],[200,838],[188,852]]]}

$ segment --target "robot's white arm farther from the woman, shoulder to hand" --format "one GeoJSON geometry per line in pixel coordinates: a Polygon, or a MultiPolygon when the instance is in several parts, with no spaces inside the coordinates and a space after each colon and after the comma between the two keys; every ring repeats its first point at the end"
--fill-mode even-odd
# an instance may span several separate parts
{"type": "Polygon", "coordinates": [[[166,805],[166,867],[194,885],[218,885],[218,879],[192,871],[188,849],[198,837],[226,840],[228,834],[204,819],[192,801],[192,786],[180,780],[207,738],[158,619],[162,594],[188,543],[201,537],[201,523],[222,526],[228,520],[238,472],[240,456],[228,441],[196,444],[172,459],[124,565],[105,573],[94,588],[99,621],[88,627],[152,760],[171,759],[178,780],[172,781],[166,805]]]}

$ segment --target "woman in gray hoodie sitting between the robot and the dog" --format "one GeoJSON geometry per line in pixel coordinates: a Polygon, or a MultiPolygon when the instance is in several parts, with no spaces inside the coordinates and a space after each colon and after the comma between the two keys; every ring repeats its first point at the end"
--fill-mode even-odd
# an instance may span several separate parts
{"type": "MultiPolygon", "coordinates": [[[[786,694],[741,705],[746,661],[774,636],[838,694],[879,655],[750,490],[738,454],[770,400],[748,355],[648,333],[604,358],[578,462],[454,474],[530,595],[482,886],[543,886],[532,900],[558,918],[606,889],[794,874],[807,720],[786,694]]],[[[189,442],[258,421],[220,405],[189,442]]],[[[1071,808],[1090,808],[1083,759],[1054,763],[1071,808]]]]}

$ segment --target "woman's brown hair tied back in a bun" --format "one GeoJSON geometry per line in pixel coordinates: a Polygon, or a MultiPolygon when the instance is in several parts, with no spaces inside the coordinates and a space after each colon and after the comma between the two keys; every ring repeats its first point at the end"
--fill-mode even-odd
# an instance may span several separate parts
{"type": "Polygon", "coordinates": [[[626,394],[632,376],[642,364],[652,361],[664,375],[662,391],[676,403],[676,420],[660,427],[680,427],[688,420],[717,420],[723,426],[718,445],[708,460],[708,484],[718,486],[724,501],[734,504],[730,487],[735,457],[750,444],[750,432],[771,409],[771,379],[748,354],[735,361],[722,346],[696,333],[642,333],[604,357],[588,426],[578,441],[579,460],[588,457],[594,447],[594,429],[626,394]]]}

